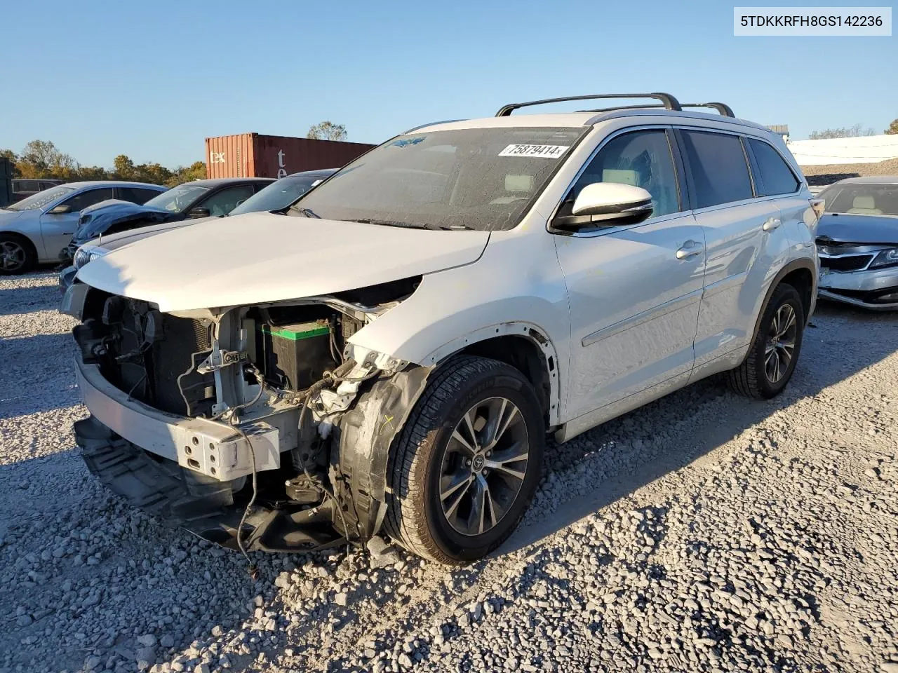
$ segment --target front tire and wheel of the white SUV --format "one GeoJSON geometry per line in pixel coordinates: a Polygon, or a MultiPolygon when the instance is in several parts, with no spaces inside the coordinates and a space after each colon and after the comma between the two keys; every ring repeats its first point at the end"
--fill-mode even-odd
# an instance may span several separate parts
{"type": "Polygon", "coordinates": [[[386,531],[413,554],[464,564],[501,545],[524,515],[541,474],[545,424],[520,371],[460,355],[435,372],[397,440],[386,531]]]}

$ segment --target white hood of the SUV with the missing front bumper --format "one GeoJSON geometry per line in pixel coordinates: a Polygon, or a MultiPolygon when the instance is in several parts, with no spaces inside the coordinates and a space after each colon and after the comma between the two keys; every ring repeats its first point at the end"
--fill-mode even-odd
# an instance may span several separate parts
{"type": "Polygon", "coordinates": [[[247,213],[151,236],[93,260],[78,279],[163,311],[356,290],[471,264],[489,232],[435,232],[247,213]]]}

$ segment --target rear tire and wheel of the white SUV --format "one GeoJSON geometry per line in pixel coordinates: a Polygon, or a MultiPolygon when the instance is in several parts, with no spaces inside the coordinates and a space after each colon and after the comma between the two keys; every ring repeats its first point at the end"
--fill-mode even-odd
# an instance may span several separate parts
{"type": "Polygon", "coordinates": [[[797,290],[786,283],[777,285],[770,295],[770,302],[758,325],[758,333],[743,363],[727,372],[730,389],[755,399],[769,399],[779,395],[795,371],[804,332],[805,310],[797,290]],[[794,329],[788,328],[785,335],[773,338],[778,328],[789,321],[789,316],[794,318],[794,329]],[[783,363],[784,354],[788,354],[789,342],[792,345],[791,355],[788,363],[783,363]],[[774,343],[779,345],[773,345],[774,343]],[[771,345],[772,351],[769,352],[771,345]],[[772,372],[769,359],[771,354],[779,359],[779,370],[772,372]]]}

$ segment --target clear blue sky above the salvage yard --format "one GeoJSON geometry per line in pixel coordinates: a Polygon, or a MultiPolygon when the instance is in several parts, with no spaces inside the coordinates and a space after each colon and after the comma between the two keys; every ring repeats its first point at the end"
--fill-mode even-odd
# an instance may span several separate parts
{"type": "Polygon", "coordinates": [[[208,135],[305,135],[322,119],[377,143],[596,92],[726,101],[793,138],[898,118],[898,37],[736,38],[720,2],[39,4],[0,14],[0,148],[52,140],[89,165],[184,164],[208,135]]]}

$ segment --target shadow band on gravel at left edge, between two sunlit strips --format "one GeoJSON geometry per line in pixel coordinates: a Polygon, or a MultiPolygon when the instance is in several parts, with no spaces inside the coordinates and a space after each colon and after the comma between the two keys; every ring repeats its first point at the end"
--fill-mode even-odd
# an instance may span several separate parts
{"type": "Polygon", "coordinates": [[[78,404],[75,372],[66,354],[75,354],[70,334],[0,338],[0,419],[78,404]]]}

